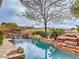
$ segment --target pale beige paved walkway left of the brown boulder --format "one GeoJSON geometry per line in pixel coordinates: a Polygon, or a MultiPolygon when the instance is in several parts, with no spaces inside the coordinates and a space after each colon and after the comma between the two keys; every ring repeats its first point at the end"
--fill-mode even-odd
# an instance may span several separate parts
{"type": "Polygon", "coordinates": [[[11,39],[4,39],[0,46],[0,59],[5,59],[9,52],[17,49],[9,40],[11,39]]]}

